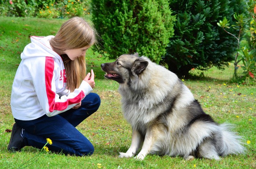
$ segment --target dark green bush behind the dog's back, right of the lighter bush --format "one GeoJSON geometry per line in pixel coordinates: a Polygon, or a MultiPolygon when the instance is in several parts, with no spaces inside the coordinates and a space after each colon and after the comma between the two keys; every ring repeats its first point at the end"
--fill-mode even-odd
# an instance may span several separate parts
{"type": "Polygon", "coordinates": [[[234,12],[244,11],[244,0],[169,2],[173,15],[177,15],[174,36],[170,39],[164,56],[169,70],[179,76],[188,76],[191,68],[222,68],[227,62],[234,60],[232,54],[236,51],[236,39],[221,30],[217,21],[226,16],[233,24],[234,12]]]}

